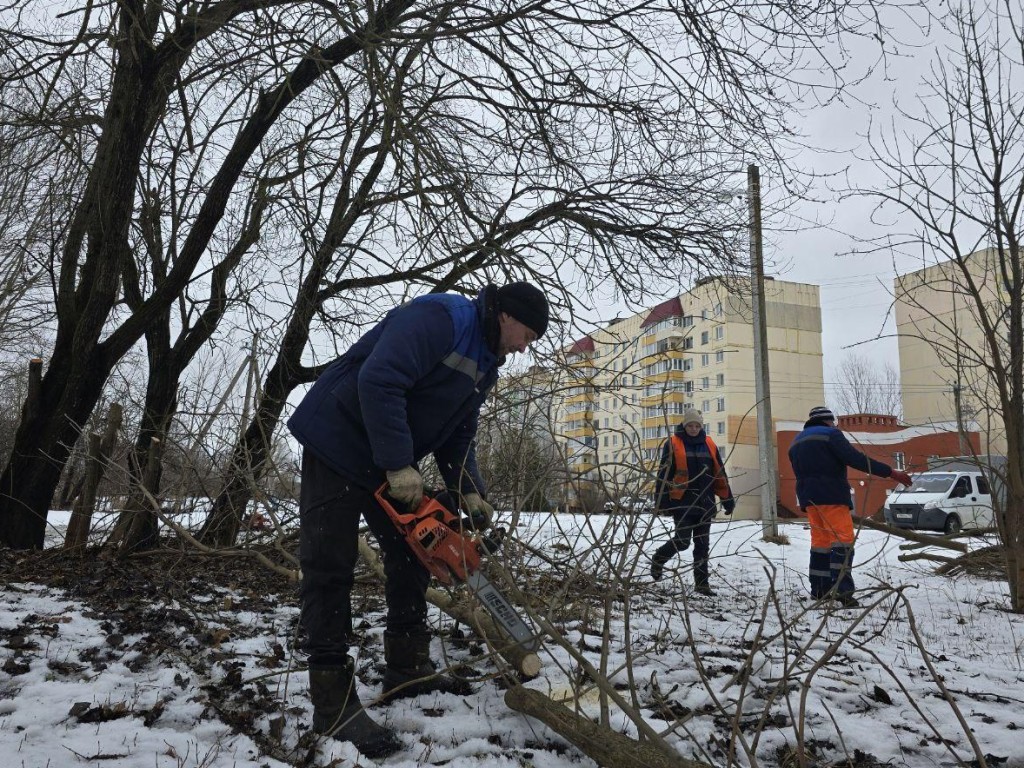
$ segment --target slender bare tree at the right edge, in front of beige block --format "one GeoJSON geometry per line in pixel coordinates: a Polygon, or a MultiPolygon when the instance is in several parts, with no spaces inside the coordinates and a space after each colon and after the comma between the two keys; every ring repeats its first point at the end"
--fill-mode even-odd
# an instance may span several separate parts
{"type": "Polygon", "coordinates": [[[883,247],[937,263],[929,280],[897,280],[912,336],[971,393],[975,418],[997,425],[996,517],[1011,605],[1024,612],[1024,18],[1012,3],[962,3],[945,27],[955,43],[918,91],[920,111],[903,114],[911,130],[873,138],[888,184],[871,194],[913,224],[883,247]]]}

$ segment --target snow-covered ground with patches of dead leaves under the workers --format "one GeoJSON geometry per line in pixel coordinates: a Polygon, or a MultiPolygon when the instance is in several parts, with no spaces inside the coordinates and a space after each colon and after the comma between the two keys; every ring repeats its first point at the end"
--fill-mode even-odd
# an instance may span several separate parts
{"type": "MultiPolygon", "coordinates": [[[[55,535],[60,514],[50,520],[55,535]]],[[[509,547],[507,567],[550,574],[546,586],[530,582],[532,604],[566,641],[546,643],[544,671],[529,687],[598,716],[597,691],[580,685],[573,653],[583,654],[681,755],[713,765],[795,766],[802,744],[806,765],[815,766],[979,765],[983,756],[989,765],[1024,766],[1024,616],[1007,610],[1004,583],[934,575],[928,563],[898,560],[902,540],[862,530],[863,607],[823,610],[806,594],[804,525],[781,525],[783,546],[763,542],[760,523],[730,521],[713,527],[718,594],[702,597],[690,588],[689,552],[671,563],[680,566],[671,578],[650,583],[644,550],[667,537],[667,524],[646,514],[522,516],[524,546],[509,547]]],[[[3,765],[373,764],[351,744],[308,735],[305,675],[292,650],[294,592],[254,595],[239,584],[185,605],[158,590],[157,621],[172,638],[159,652],[159,633],[122,626],[116,611],[97,611],[79,592],[16,580],[0,586],[3,765]],[[177,629],[181,611],[208,629],[202,640],[177,629]],[[259,702],[255,714],[225,715],[246,697],[259,702]]],[[[356,607],[367,620],[353,649],[367,702],[379,691],[382,606],[368,597],[356,607]]],[[[441,636],[451,629],[436,612],[434,623],[441,636]]],[[[475,643],[447,637],[434,647],[460,662],[478,653],[475,643]]],[[[466,698],[373,706],[373,717],[407,744],[383,764],[593,765],[509,710],[490,663],[478,671],[477,691],[466,698]]],[[[636,737],[636,724],[614,706],[609,719],[636,737]]]]}

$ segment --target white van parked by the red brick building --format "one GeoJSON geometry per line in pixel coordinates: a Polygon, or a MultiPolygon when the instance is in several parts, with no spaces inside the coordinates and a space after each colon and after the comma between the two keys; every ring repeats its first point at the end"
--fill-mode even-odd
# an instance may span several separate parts
{"type": "Polygon", "coordinates": [[[913,485],[898,486],[886,500],[886,522],[900,528],[942,530],[994,524],[992,492],[981,472],[922,472],[913,485]]]}

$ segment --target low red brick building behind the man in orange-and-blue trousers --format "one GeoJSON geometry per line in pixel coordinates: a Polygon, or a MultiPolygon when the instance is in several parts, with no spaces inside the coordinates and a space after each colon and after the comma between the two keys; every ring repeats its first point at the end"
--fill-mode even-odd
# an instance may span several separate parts
{"type": "MultiPolygon", "coordinates": [[[[854,414],[841,416],[838,426],[861,453],[907,472],[926,471],[929,457],[963,456],[971,453],[963,450],[955,423],[907,427],[900,424],[894,416],[854,414]]],[[[780,515],[803,516],[797,506],[797,478],[793,474],[788,453],[794,438],[803,428],[804,425],[799,422],[775,424],[780,515]]],[[[965,437],[970,441],[971,451],[981,452],[981,439],[977,431],[966,432],[965,437]]],[[[896,486],[893,480],[871,477],[856,469],[849,470],[847,476],[853,488],[854,512],[862,516],[877,514],[885,505],[886,492],[896,486]]]]}

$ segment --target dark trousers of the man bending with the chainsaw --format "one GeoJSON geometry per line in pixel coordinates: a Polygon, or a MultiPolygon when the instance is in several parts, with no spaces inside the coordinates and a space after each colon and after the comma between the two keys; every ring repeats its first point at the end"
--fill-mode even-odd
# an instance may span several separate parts
{"type": "Polygon", "coordinates": [[[339,665],[347,655],[360,516],[383,556],[387,633],[426,632],[430,574],[373,494],[348,482],[306,451],[299,494],[299,597],[303,649],[310,666],[339,665]]]}

